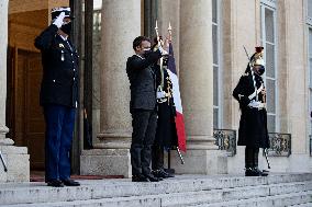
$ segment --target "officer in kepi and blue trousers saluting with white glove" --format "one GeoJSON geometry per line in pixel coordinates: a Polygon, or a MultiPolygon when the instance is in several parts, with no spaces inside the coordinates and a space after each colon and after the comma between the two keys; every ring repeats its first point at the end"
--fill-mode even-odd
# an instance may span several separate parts
{"type": "Polygon", "coordinates": [[[70,180],[70,148],[78,104],[78,55],[68,39],[70,8],[52,10],[52,24],[35,38],[42,51],[40,101],[45,131],[45,182],[48,186],[78,186],[70,180]]]}

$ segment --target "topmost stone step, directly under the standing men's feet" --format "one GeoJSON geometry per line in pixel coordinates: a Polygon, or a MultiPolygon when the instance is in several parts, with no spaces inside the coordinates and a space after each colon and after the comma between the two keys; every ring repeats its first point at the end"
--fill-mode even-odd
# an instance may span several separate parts
{"type": "Polygon", "coordinates": [[[145,196],[312,181],[312,173],[274,174],[267,177],[234,175],[179,175],[159,183],[130,180],[81,181],[79,187],[53,188],[44,183],[0,184],[0,204],[31,204],[145,196]]]}

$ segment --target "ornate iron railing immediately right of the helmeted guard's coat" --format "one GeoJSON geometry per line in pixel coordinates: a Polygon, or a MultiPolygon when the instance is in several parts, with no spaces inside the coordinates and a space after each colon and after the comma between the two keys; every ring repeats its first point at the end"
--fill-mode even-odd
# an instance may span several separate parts
{"type": "Polygon", "coordinates": [[[289,157],[291,154],[291,134],[269,133],[267,152],[270,157],[289,157]]]}

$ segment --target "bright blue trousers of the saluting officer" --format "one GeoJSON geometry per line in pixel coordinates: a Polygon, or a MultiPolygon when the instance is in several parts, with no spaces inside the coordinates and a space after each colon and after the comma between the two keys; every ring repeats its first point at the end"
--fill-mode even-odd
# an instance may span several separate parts
{"type": "Polygon", "coordinates": [[[70,177],[70,148],[76,110],[45,105],[45,181],[70,177]]]}

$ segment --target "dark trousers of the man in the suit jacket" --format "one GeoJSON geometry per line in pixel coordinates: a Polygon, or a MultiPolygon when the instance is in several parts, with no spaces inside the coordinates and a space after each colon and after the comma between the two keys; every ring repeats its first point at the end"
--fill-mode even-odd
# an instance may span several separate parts
{"type": "Polygon", "coordinates": [[[152,145],[155,139],[157,127],[156,111],[132,111],[132,143],[131,165],[132,174],[151,174],[152,145]]]}

